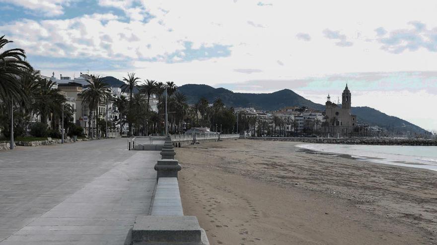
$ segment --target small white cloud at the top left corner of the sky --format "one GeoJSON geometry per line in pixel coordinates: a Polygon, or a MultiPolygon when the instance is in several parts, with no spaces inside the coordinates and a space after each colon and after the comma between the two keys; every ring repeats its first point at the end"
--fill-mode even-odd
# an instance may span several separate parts
{"type": "Polygon", "coordinates": [[[43,13],[46,16],[57,16],[64,13],[63,6],[71,0],[0,0],[0,2],[14,5],[43,13]]]}

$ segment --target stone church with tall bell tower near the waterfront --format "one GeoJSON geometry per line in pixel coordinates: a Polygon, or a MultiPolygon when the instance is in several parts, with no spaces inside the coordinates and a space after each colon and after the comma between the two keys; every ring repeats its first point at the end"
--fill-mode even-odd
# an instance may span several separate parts
{"type": "Polygon", "coordinates": [[[331,102],[329,95],[325,105],[325,125],[329,127],[331,133],[347,136],[354,132],[354,128],[357,126],[357,116],[351,113],[351,91],[349,91],[347,84],[342,94],[341,107],[331,102]]]}

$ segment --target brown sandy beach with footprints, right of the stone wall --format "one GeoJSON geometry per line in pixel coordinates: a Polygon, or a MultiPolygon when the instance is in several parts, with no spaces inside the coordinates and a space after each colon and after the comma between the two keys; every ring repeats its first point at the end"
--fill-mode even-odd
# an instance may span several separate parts
{"type": "Polygon", "coordinates": [[[437,172],[231,140],[176,148],[212,245],[437,244],[437,172]]]}

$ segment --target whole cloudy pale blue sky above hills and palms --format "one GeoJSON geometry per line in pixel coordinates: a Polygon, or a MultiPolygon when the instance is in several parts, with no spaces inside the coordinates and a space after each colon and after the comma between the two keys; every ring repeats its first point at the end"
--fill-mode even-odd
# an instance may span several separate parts
{"type": "Polygon", "coordinates": [[[437,130],[437,1],[0,0],[43,75],[341,97],[437,130]]]}

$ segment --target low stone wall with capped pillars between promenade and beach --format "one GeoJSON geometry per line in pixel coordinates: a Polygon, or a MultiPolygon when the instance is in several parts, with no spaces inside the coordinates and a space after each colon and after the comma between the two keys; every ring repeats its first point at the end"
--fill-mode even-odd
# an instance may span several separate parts
{"type": "Polygon", "coordinates": [[[196,216],[184,215],[177,179],[181,166],[174,155],[173,143],[167,136],[162,159],[154,166],[157,184],[150,215],[136,218],[125,245],[209,245],[196,216]]]}

